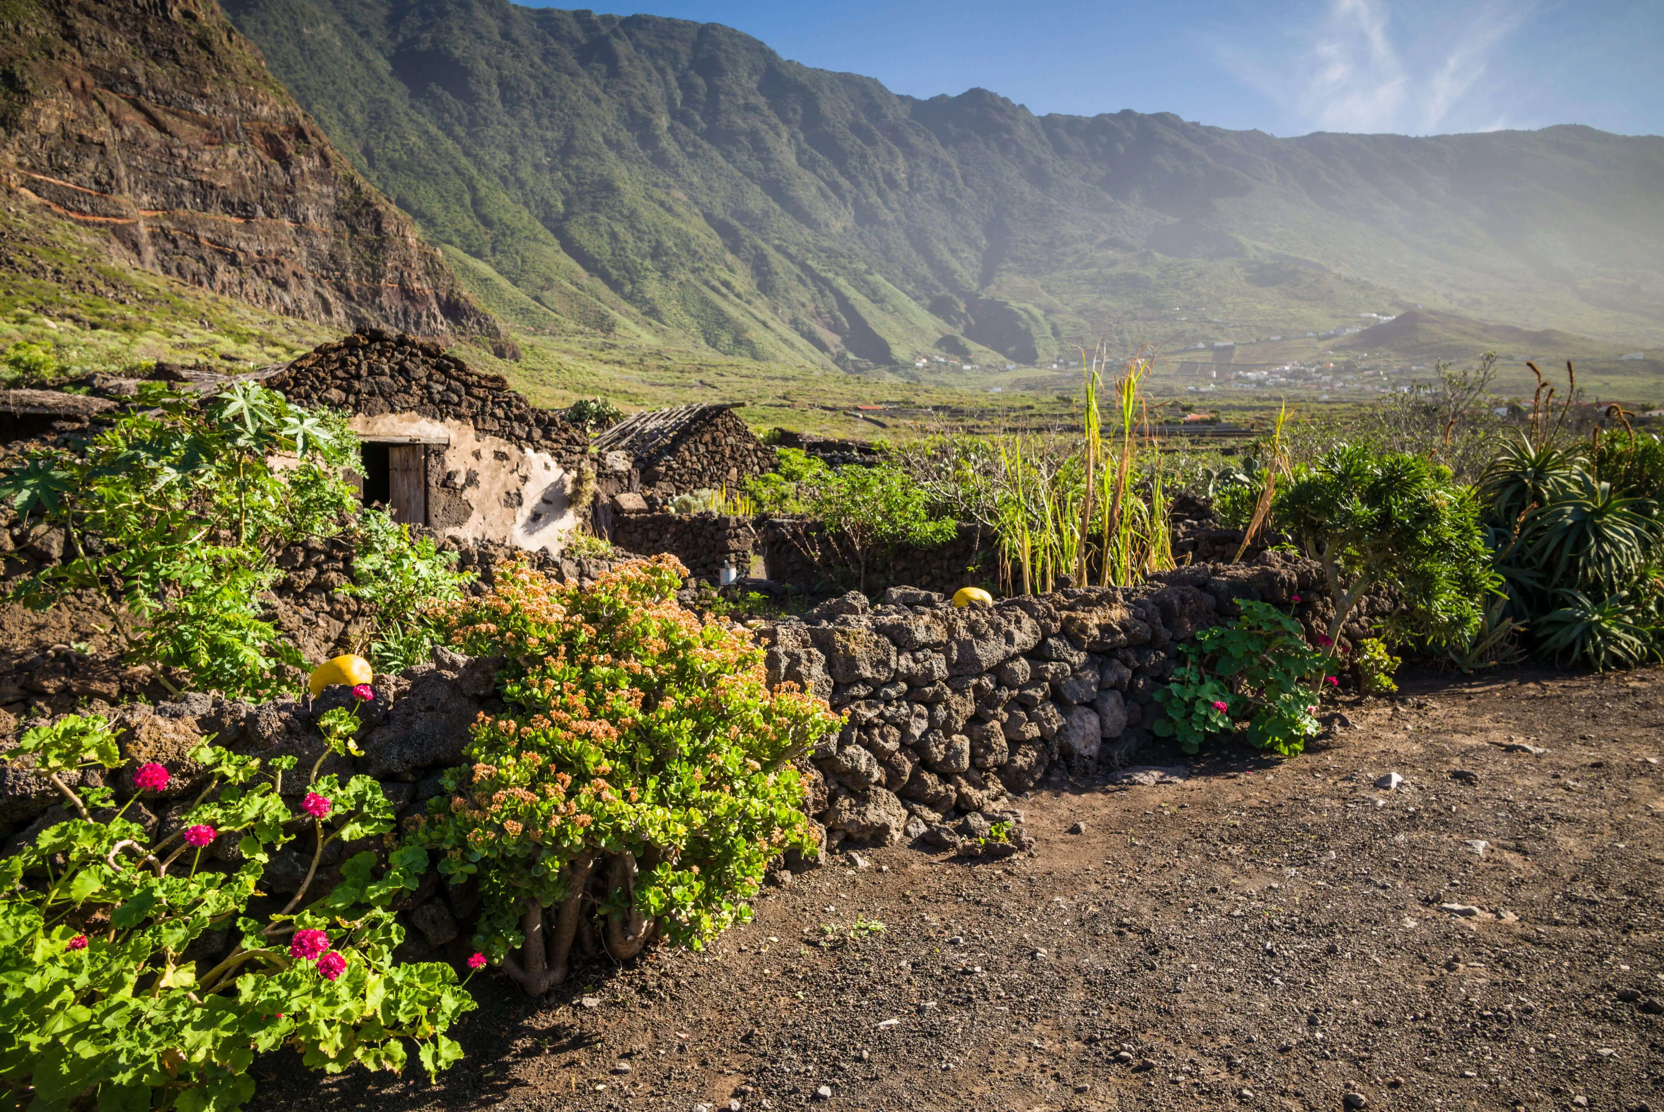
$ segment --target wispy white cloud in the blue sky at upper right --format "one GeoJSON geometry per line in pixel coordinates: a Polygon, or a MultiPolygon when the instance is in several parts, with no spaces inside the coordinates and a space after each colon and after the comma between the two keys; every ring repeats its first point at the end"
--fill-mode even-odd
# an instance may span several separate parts
{"type": "Polygon", "coordinates": [[[1506,113],[1483,78],[1529,8],[1488,0],[1461,18],[1406,27],[1388,0],[1328,0],[1280,50],[1218,52],[1293,128],[1424,135],[1456,122],[1484,128],[1479,118],[1496,128],[1506,113]]]}

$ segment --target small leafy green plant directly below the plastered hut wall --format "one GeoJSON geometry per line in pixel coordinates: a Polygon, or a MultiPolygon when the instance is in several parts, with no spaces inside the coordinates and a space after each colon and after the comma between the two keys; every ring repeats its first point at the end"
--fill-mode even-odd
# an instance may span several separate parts
{"type": "Polygon", "coordinates": [[[381,673],[401,673],[428,659],[438,633],[429,606],[454,599],[474,581],[474,573],[456,571],[456,553],[441,553],[429,536],[411,536],[409,526],[381,509],[364,509],[358,518],[353,554],[353,583],[341,588],[356,598],[368,623],[359,644],[381,673]]]}

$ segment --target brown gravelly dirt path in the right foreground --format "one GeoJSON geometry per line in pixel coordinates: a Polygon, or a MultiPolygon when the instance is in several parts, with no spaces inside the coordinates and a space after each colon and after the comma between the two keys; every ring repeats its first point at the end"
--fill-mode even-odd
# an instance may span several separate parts
{"type": "Polygon", "coordinates": [[[1032,857],[845,854],[707,954],[489,980],[439,1087],[273,1059],[256,1107],[1664,1112],[1664,669],[1401,694],[1048,786],[1032,857]]]}

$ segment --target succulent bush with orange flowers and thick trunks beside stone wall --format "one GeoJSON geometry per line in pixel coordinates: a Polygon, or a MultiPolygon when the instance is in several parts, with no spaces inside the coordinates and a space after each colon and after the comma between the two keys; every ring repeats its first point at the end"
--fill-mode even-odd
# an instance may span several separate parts
{"type": "Polygon", "coordinates": [[[478,944],[532,995],[579,931],[616,959],[654,936],[699,947],[749,919],[772,857],[812,846],[794,761],[839,717],[770,691],[742,633],[676,603],[682,574],[657,556],[577,589],[518,561],[433,609],[454,646],[504,658],[513,709],[481,714],[473,766],[408,834],[453,884],[479,879],[478,944]]]}

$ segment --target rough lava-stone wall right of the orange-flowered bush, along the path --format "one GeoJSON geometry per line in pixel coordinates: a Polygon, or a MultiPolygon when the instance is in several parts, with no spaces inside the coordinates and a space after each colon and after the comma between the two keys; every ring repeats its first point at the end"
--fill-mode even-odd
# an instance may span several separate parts
{"type": "Polygon", "coordinates": [[[1310,609],[1321,586],[1313,561],[1265,553],[963,609],[917,588],[877,606],[850,593],[762,638],[772,683],[847,714],[812,754],[829,841],[948,846],[1010,821],[1048,767],[1113,764],[1148,741],[1178,643],[1243,599],[1310,609]]]}

